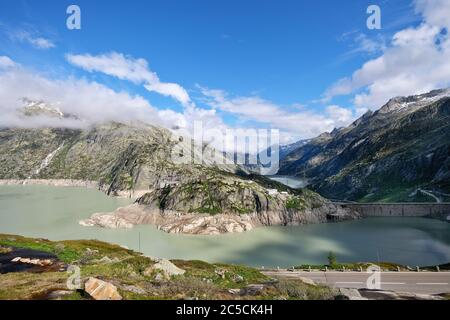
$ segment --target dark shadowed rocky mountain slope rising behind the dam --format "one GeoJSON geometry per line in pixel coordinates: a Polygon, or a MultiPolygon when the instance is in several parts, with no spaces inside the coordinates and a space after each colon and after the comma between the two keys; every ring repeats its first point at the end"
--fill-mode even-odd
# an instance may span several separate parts
{"type": "Polygon", "coordinates": [[[449,137],[450,90],[398,97],[292,151],[280,173],[305,175],[313,190],[332,199],[445,201],[449,137]]]}

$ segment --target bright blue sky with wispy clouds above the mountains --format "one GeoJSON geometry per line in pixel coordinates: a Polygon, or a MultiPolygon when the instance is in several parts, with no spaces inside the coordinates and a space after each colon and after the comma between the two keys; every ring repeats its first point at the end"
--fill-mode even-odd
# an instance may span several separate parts
{"type": "Polygon", "coordinates": [[[364,73],[364,66],[380,57],[389,61],[406,46],[442,51],[424,43],[423,37],[411,43],[396,36],[400,32],[400,39],[409,37],[402,33],[405,30],[426,33],[428,29],[422,30],[426,25],[428,37],[440,36],[445,43],[447,25],[436,18],[442,3],[0,0],[0,56],[44,79],[98,83],[144,99],[155,112],[173,111],[163,112],[162,118],[183,118],[189,125],[207,113],[212,125],[274,127],[287,140],[296,140],[348,124],[364,111],[380,107],[390,95],[448,85],[447,76],[427,80],[424,74],[412,79],[412,64],[390,78],[371,74],[361,80],[354,74],[364,73]],[[81,30],[66,28],[70,4],[81,8],[81,30]],[[371,4],[382,10],[381,30],[366,27],[371,4]],[[433,31],[435,26],[438,31],[433,31]],[[114,59],[111,54],[116,54],[114,59]],[[136,81],[119,77],[105,70],[105,61],[92,61],[99,57],[108,63],[145,59],[149,72],[157,74],[156,87],[159,82],[177,87],[146,89],[153,80],[145,75],[136,81]],[[380,89],[389,81],[399,83],[401,75],[412,85],[380,89]],[[166,89],[185,90],[189,101],[162,93],[166,89]]]}

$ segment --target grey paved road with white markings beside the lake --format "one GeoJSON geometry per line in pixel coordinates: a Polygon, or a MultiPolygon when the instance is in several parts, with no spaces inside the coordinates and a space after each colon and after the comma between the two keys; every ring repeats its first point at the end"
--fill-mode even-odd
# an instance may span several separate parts
{"type": "MultiPolygon", "coordinates": [[[[365,272],[263,271],[271,277],[307,278],[335,288],[367,288],[365,272]]],[[[382,272],[381,290],[423,294],[450,293],[450,272],[382,272]]]]}

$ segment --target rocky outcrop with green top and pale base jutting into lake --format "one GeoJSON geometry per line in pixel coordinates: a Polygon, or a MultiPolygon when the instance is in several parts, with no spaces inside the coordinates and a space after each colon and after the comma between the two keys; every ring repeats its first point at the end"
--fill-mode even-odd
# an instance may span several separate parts
{"type": "Polygon", "coordinates": [[[250,179],[204,169],[201,174],[193,172],[174,183],[161,184],[129,207],[96,213],[80,224],[113,229],[153,224],[169,233],[218,235],[259,226],[357,218],[356,211],[334,205],[306,189],[290,189],[263,177],[250,179]]]}

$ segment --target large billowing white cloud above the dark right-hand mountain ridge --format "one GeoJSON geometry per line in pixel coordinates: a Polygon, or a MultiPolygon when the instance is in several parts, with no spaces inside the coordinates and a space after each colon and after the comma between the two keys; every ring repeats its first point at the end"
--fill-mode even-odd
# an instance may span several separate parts
{"type": "Polygon", "coordinates": [[[355,106],[376,109],[394,96],[449,86],[450,40],[443,28],[450,26],[450,2],[417,0],[416,10],[422,24],[397,32],[381,56],[337,81],[325,97],[362,91],[354,96],[355,106]]]}

